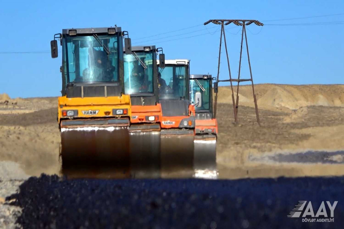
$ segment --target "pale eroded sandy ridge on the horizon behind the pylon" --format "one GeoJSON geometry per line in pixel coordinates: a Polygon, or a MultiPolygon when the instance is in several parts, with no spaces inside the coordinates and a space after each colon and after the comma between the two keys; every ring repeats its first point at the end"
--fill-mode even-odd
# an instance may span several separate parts
{"type": "MultiPolygon", "coordinates": [[[[344,85],[282,85],[257,84],[255,93],[258,107],[288,108],[297,110],[304,106],[344,107],[344,85]]],[[[234,96],[236,97],[236,87],[234,96]]],[[[230,87],[220,87],[218,102],[232,103],[230,87]]],[[[251,85],[239,87],[239,105],[253,107],[251,85]]]]}

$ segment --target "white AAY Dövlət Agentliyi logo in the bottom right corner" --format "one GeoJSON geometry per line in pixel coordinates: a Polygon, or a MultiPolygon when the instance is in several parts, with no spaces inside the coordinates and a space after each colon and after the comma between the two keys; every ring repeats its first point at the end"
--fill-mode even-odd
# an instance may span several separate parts
{"type": "Polygon", "coordinates": [[[333,202],[331,205],[330,201],[326,201],[326,204],[328,208],[330,209],[330,216],[327,214],[327,210],[325,207],[325,203],[321,202],[321,205],[314,215],[312,202],[309,201],[307,204],[307,201],[299,201],[297,205],[293,208],[293,210],[289,213],[288,217],[292,218],[299,218],[302,217],[302,222],[334,222],[333,213],[334,209],[337,206],[338,201],[333,202]],[[306,206],[307,205],[307,206],[306,206]],[[304,210],[303,210],[304,209],[304,210]],[[303,214],[302,214],[303,213],[303,214]],[[302,214],[302,216],[301,216],[302,214]],[[304,218],[306,216],[310,216],[311,218],[318,218],[319,216],[323,216],[323,218],[318,219],[310,219],[310,218],[304,218]],[[331,218],[328,218],[331,217],[331,218]]]}

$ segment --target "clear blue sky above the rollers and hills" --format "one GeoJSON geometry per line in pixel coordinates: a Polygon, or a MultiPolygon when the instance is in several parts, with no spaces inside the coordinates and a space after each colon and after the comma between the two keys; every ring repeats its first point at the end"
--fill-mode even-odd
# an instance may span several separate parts
{"type": "MultiPolygon", "coordinates": [[[[117,24],[129,31],[132,45],[155,44],[163,47],[166,59],[191,59],[191,73],[216,76],[220,26],[202,24],[209,19],[255,19],[266,24],[247,26],[255,83],[342,84],[343,23],[280,24],[343,22],[344,14],[269,21],[340,13],[344,13],[342,0],[5,1],[0,8],[0,52],[46,51],[53,35],[63,28],[117,24]],[[187,29],[166,33],[183,28],[187,29]],[[166,34],[153,36],[160,33],[166,34]]],[[[226,26],[233,77],[238,71],[240,33],[240,27],[226,26]]],[[[249,78],[246,48],[243,53],[241,78],[249,78]]],[[[0,54],[0,63],[0,93],[12,98],[61,94],[61,55],[52,59],[50,53],[0,54]]],[[[224,49],[220,79],[228,79],[224,49]]]]}

